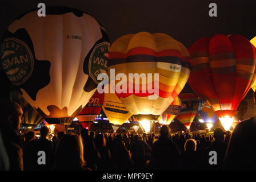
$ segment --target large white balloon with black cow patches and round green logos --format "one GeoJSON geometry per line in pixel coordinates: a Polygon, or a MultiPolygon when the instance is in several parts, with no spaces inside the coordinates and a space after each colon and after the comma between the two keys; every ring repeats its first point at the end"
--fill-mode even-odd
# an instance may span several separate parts
{"type": "Polygon", "coordinates": [[[1,64],[49,124],[70,123],[107,71],[109,39],[92,16],[68,7],[23,14],[7,28],[1,64]]]}

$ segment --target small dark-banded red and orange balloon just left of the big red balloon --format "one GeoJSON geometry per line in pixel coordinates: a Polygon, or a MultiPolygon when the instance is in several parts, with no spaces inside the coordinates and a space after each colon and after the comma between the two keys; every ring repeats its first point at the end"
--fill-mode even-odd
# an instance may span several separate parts
{"type": "Polygon", "coordinates": [[[181,98],[182,106],[177,119],[186,126],[187,129],[190,129],[190,125],[197,114],[199,106],[198,97],[193,93],[182,93],[179,94],[179,98],[181,98]]]}

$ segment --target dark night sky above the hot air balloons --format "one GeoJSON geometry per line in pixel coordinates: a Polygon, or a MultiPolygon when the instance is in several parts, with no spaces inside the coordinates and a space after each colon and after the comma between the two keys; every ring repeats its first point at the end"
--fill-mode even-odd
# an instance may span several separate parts
{"type": "Polygon", "coordinates": [[[186,47],[214,34],[256,36],[255,0],[0,0],[0,38],[13,19],[40,2],[91,14],[106,28],[111,43],[139,31],[171,35],[186,47]],[[209,16],[212,2],[217,3],[218,17],[209,16]]]}

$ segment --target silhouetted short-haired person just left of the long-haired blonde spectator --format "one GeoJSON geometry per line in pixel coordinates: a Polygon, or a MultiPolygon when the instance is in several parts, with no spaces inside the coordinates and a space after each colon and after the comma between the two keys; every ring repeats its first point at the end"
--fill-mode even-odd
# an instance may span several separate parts
{"type": "Polygon", "coordinates": [[[47,139],[49,129],[44,126],[40,129],[41,138],[33,140],[29,143],[26,150],[24,151],[24,168],[25,170],[49,170],[51,169],[51,156],[53,143],[47,139]],[[45,164],[38,164],[39,151],[45,152],[45,164]]]}

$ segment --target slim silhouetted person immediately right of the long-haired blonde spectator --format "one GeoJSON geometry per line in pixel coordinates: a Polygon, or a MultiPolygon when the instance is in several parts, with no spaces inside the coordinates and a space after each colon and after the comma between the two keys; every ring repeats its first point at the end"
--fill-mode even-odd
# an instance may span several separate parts
{"type": "Polygon", "coordinates": [[[99,163],[99,153],[95,147],[93,140],[89,137],[89,131],[83,129],[81,131],[81,136],[83,139],[83,157],[86,161],[88,167],[93,171],[97,170],[97,164],[99,163]]]}

